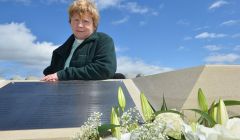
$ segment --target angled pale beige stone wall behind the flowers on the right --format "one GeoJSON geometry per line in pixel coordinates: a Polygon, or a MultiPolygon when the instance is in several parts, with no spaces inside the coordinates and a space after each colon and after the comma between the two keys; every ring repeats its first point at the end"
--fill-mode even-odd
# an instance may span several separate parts
{"type": "MultiPolygon", "coordinates": [[[[133,79],[156,110],[162,105],[163,94],[169,108],[198,108],[197,93],[201,88],[209,106],[213,100],[240,100],[240,65],[206,65],[133,79]]],[[[227,107],[239,115],[240,106],[227,107]]],[[[185,111],[186,114],[186,111],[185,111]]],[[[187,114],[189,115],[189,114],[187,114]]],[[[189,116],[192,119],[193,115],[189,116]]]]}

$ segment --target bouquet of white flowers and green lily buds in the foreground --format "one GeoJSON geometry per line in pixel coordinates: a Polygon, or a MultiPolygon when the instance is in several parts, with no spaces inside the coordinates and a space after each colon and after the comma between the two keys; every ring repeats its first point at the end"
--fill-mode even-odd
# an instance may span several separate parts
{"type": "MultiPolygon", "coordinates": [[[[161,110],[155,111],[141,93],[142,116],[135,108],[125,111],[126,100],[122,88],[118,89],[118,106],[112,107],[109,124],[101,124],[102,114],[93,113],[80,127],[73,140],[240,140],[240,119],[228,117],[226,106],[240,105],[237,100],[215,101],[208,107],[202,90],[198,90],[200,114],[196,122],[168,109],[164,96],[161,110]]],[[[182,111],[184,111],[182,110],[182,111]]]]}

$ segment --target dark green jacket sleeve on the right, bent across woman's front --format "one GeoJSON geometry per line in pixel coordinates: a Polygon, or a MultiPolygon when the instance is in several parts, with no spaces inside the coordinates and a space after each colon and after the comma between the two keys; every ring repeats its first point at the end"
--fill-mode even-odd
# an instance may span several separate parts
{"type": "Polygon", "coordinates": [[[102,80],[112,78],[116,67],[113,40],[109,36],[104,36],[97,44],[92,62],[80,68],[68,67],[58,71],[57,75],[59,80],[102,80]]]}

